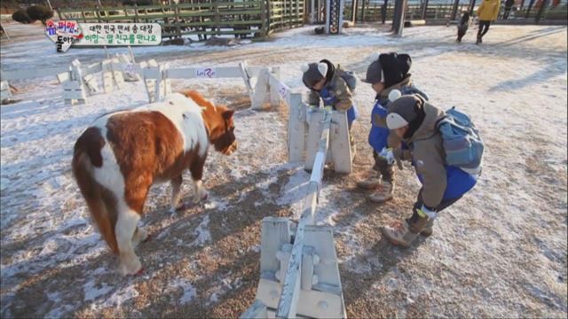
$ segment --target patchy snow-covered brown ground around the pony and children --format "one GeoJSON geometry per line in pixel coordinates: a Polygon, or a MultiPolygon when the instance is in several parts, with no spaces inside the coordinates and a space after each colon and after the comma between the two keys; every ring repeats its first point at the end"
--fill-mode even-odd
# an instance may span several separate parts
{"type": "MultiPolygon", "coordinates": [[[[46,39],[29,35],[33,26],[8,27],[22,35],[3,43],[3,69],[104,58],[102,50],[58,55],[46,39]]],[[[281,66],[291,87],[301,85],[304,62],[330,58],[364,74],[374,51],[410,53],[414,82],[433,104],[459,105],[481,129],[484,175],[440,214],[433,237],[406,250],[391,247],[379,226],[410,214],[418,183],[406,167],[397,199],[383,206],[355,188],[372,160],[366,141],[374,94],[360,84],[355,173],[326,173],[317,217],[335,227],[348,315],[566,317],[566,27],[492,26],[481,46],[472,44],[473,30],[455,44],[454,27],[410,28],[402,39],[373,27],[335,37],[312,36],[311,29],[233,48],[134,52],[172,66],[244,59],[281,66]]],[[[145,275],[123,277],[91,227],[70,162],[83,129],[101,113],[146,103],[144,87],[128,83],[71,107],[55,79],[43,80],[14,82],[22,101],[0,108],[2,317],[240,315],[256,292],[260,221],[297,217],[308,180],[301,167],[285,164],[286,108],[248,111],[236,80],[174,82],[174,89],[199,89],[238,110],[240,149],[231,157],[211,153],[207,203],[171,215],[169,186],[153,189],[143,219],[152,240],[137,248],[145,275]]],[[[191,189],[184,191],[188,198],[191,189]]]]}

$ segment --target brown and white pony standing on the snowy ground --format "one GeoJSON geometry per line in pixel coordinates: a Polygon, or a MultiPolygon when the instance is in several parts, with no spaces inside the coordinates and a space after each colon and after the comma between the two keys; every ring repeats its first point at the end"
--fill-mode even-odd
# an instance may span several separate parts
{"type": "Polygon", "coordinates": [[[142,270],[133,246],[147,237],[137,224],[150,186],[170,181],[175,210],[182,173],[189,169],[193,201],[206,198],[201,177],[209,145],[225,155],[237,149],[233,113],[196,91],[185,91],[163,102],[103,115],[79,137],[72,164],[75,180],[125,275],[142,270]]]}

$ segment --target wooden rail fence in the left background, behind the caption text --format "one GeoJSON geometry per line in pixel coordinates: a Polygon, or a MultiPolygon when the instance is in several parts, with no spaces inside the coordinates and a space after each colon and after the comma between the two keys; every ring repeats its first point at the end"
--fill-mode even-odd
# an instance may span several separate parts
{"type": "Polygon", "coordinates": [[[155,22],[162,37],[208,35],[264,37],[304,24],[304,0],[197,0],[189,4],[95,7],[57,10],[60,19],[79,22],[155,22]]]}

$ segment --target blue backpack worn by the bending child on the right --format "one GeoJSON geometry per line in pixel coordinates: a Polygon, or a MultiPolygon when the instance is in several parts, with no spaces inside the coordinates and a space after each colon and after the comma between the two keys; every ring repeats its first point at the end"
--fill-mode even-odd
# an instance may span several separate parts
{"type": "Polygon", "coordinates": [[[485,145],[469,116],[454,106],[438,120],[436,128],[442,135],[446,164],[472,175],[480,174],[485,145]]]}

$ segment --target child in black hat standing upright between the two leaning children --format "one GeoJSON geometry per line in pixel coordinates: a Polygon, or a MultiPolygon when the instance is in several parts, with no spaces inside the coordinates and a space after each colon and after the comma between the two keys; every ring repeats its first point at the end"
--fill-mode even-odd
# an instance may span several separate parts
{"type": "Polygon", "coordinates": [[[396,52],[375,54],[373,62],[367,67],[367,76],[363,82],[372,85],[377,93],[375,105],[371,113],[371,130],[368,142],[373,147],[375,166],[367,179],[357,183],[359,188],[376,190],[369,196],[369,200],[375,203],[383,203],[393,198],[394,194],[394,166],[389,164],[382,155],[388,148],[394,148],[399,154],[402,148],[400,139],[390,134],[386,126],[386,115],[390,104],[389,94],[398,89],[403,95],[419,94],[425,99],[428,96],[414,86],[411,74],[408,73],[412,66],[412,59],[407,54],[396,52]]]}

